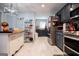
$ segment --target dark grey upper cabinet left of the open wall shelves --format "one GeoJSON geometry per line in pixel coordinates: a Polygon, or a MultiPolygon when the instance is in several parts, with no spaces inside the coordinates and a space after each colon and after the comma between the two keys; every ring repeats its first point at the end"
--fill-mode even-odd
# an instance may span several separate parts
{"type": "Polygon", "coordinates": [[[68,22],[70,19],[70,5],[66,4],[58,13],[57,16],[61,22],[68,22]]]}

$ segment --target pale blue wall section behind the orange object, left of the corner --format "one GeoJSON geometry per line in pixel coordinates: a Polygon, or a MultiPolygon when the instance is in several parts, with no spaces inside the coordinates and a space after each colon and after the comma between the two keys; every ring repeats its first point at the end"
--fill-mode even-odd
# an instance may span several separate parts
{"type": "Polygon", "coordinates": [[[5,13],[5,14],[2,14],[1,22],[6,21],[9,23],[9,28],[13,28],[16,26],[16,19],[17,19],[17,16],[11,15],[9,13],[5,13]]]}

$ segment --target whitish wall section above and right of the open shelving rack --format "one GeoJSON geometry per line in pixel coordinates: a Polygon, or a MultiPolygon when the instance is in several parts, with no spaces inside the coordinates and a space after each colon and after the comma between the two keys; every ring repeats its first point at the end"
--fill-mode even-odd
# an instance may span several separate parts
{"type": "Polygon", "coordinates": [[[35,37],[34,36],[35,35],[35,14],[31,13],[31,12],[29,12],[29,13],[19,13],[18,17],[24,18],[23,21],[22,21],[23,23],[17,23],[17,26],[22,27],[23,29],[25,29],[24,28],[25,27],[24,22],[26,22],[30,19],[33,20],[33,29],[32,30],[33,30],[33,38],[34,38],[35,37]]]}

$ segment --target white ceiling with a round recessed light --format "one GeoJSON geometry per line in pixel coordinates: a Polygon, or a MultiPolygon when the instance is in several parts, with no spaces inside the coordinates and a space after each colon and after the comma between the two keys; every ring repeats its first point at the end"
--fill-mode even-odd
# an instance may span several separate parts
{"type": "Polygon", "coordinates": [[[32,12],[36,15],[50,15],[59,11],[65,3],[16,3],[13,4],[19,12],[32,12]],[[45,7],[42,8],[41,4],[45,7]]]}

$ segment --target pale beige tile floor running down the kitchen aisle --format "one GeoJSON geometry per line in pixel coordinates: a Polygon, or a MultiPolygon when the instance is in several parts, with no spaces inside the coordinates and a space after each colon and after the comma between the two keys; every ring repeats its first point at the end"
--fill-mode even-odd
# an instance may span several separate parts
{"type": "Polygon", "coordinates": [[[57,46],[51,46],[47,37],[39,37],[34,42],[25,43],[15,56],[54,56],[63,55],[57,46]]]}

